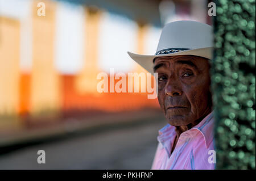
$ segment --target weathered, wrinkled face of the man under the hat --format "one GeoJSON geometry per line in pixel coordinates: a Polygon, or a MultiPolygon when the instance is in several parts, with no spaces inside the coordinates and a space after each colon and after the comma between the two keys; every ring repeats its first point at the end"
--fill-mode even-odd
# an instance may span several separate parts
{"type": "Polygon", "coordinates": [[[168,123],[188,125],[208,115],[212,107],[209,62],[198,56],[158,57],[158,101],[168,123]]]}

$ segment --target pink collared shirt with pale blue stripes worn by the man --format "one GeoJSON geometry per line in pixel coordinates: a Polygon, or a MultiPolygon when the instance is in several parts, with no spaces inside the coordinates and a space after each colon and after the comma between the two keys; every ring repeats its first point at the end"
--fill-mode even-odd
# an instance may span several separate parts
{"type": "Polygon", "coordinates": [[[151,169],[214,169],[213,112],[199,124],[180,134],[171,154],[176,137],[175,127],[167,124],[159,130],[158,148],[151,169]]]}

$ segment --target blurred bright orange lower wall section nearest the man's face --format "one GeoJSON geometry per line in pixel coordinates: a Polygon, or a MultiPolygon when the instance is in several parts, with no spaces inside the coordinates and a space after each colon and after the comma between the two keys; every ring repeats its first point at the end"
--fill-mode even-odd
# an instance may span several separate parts
{"type": "MultiPolygon", "coordinates": [[[[78,108],[113,112],[137,110],[143,107],[159,107],[157,99],[147,99],[147,93],[102,92],[98,94],[79,94],[75,89],[75,79],[75,75],[61,76],[64,111],[78,108]]],[[[115,80],[115,82],[118,82],[118,80],[115,80]]],[[[128,82],[128,79],[126,82],[128,82]]],[[[128,84],[126,85],[128,86],[128,84]]]]}

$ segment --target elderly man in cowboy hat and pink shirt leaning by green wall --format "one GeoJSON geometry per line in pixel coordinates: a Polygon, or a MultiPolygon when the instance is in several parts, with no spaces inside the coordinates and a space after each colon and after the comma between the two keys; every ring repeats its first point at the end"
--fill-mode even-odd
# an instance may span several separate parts
{"type": "Polygon", "coordinates": [[[158,101],[168,121],[159,130],[152,169],[214,169],[212,27],[194,21],[168,23],[154,56],[128,53],[158,73],[158,101]]]}

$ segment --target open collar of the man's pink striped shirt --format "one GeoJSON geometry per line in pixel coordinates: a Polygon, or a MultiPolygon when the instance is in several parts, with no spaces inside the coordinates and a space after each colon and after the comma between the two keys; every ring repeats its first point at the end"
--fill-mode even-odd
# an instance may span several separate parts
{"type": "MultiPolygon", "coordinates": [[[[199,124],[183,133],[189,133],[193,130],[199,131],[204,137],[206,148],[209,148],[210,143],[213,140],[213,122],[214,119],[212,111],[203,120],[201,120],[199,124]]],[[[170,148],[170,145],[173,144],[174,136],[176,136],[175,127],[170,124],[165,125],[162,129],[159,130],[158,141],[163,145],[164,148],[167,149],[168,153],[170,153],[168,148],[170,148]]]]}

